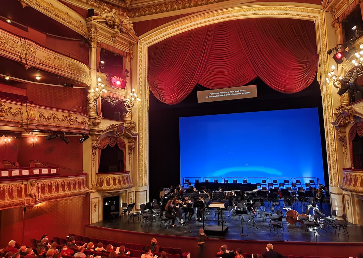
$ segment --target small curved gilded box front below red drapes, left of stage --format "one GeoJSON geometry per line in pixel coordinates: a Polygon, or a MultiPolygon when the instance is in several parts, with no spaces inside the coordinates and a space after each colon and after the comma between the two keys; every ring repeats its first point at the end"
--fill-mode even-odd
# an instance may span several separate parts
{"type": "Polygon", "coordinates": [[[109,192],[133,187],[130,171],[117,173],[97,173],[96,191],[109,192]]]}

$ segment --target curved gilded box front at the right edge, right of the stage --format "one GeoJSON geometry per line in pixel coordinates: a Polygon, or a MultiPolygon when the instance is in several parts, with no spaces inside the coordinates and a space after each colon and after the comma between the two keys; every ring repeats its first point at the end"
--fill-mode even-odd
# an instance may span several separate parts
{"type": "Polygon", "coordinates": [[[363,171],[358,169],[343,168],[343,180],[339,187],[352,193],[363,193],[363,171]]]}

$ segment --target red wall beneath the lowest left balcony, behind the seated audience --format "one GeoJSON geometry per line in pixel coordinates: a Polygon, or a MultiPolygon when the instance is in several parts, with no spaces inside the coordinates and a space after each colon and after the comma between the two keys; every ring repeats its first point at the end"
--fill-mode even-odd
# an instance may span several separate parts
{"type": "MultiPolygon", "coordinates": [[[[85,225],[89,223],[89,211],[89,195],[43,202],[40,206],[26,209],[23,244],[30,245],[29,238],[39,239],[44,234],[49,235],[49,240],[52,239],[52,235],[83,235],[85,225]]],[[[23,208],[1,210],[0,220],[0,247],[6,246],[10,240],[20,244],[23,208]]]]}

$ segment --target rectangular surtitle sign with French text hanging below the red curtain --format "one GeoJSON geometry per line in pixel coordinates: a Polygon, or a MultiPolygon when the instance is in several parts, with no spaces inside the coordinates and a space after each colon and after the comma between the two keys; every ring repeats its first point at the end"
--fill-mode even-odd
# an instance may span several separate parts
{"type": "Polygon", "coordinates": [[[231,99],[256,98],[256,85],[223,88],[217,90],[204,90],[197,92],[198,103],[224,101],[231,99]]]}

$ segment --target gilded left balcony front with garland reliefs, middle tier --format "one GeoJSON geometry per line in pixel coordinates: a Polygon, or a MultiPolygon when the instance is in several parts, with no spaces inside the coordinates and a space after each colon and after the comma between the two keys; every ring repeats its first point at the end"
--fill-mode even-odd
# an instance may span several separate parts
{"type": "Polygon", "coordinates": [[[24,127],[25,131],[42,128],[49,131],[73,131],[88,134],[91,128],[85,113],[0,99],[0,125],[24,127]]]}

